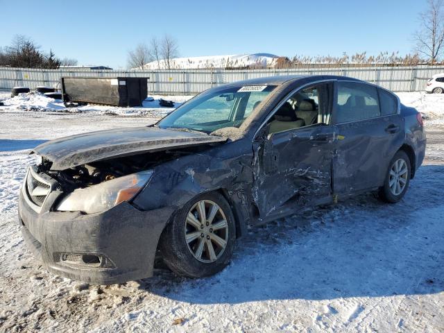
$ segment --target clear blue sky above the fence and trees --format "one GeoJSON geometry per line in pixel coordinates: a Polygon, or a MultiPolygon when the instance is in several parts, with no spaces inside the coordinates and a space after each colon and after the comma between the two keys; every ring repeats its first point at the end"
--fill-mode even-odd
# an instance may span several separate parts
{"type": "Polygon", "coordinates": [[[15,34],[79,65],[126,67],[128,50],[169,34],[180,56],[341,56],[413,49],[425,0],[0,0],[0,46],[15,34]]]}

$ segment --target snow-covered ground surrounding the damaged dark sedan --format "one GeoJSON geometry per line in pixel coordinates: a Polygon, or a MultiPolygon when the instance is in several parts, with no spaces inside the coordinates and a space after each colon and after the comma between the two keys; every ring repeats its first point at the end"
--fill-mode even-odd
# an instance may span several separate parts
{"type": "Polygon", "coordinates": [[[54,101],[46,108],[40,96],[7,99],[0,106],[0,331],[444,332],[444,94],[399,96],[425,114],[429,140],[401,203],[364,195],[251,228],[211,278],[157,271],[108,287],[47,273],[26,250],[17,191],[35,158],[27,153],[46,139],[152,123],[159,108],[66,112],[54,101]]]}

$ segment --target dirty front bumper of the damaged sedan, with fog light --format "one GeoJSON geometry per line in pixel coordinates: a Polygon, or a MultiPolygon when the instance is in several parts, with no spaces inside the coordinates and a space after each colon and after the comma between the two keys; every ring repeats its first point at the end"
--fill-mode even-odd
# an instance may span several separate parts
{"type": "Polygon", "coordinates": [[[113,284],[153,275],[157,242],[171,208],[144,212],[121,203],[98,214],[33,210],[19,194],[19,224],[28,247],[49,271],[113,284]]]}

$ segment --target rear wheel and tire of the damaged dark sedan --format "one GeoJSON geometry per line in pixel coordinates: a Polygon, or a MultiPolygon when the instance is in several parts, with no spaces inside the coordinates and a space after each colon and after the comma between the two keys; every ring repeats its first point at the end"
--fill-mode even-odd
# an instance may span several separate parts
{"type": "Polygon", "coordinates": [[[410,176],[410,159],[404,151],[398,151],[390,161],[384,186],[379,190],[379,198],[386,203],[398,203],[409,188],[410,176]]]}

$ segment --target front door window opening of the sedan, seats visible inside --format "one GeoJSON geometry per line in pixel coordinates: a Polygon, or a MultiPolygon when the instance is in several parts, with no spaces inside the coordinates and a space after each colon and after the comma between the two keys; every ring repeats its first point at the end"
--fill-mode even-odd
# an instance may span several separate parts
{"type": "Polygon", "coordinates": [[[332,87],[331,83],[322,83],[293,94],[268,121],[270,133],[329,123],[332,87]]]}

